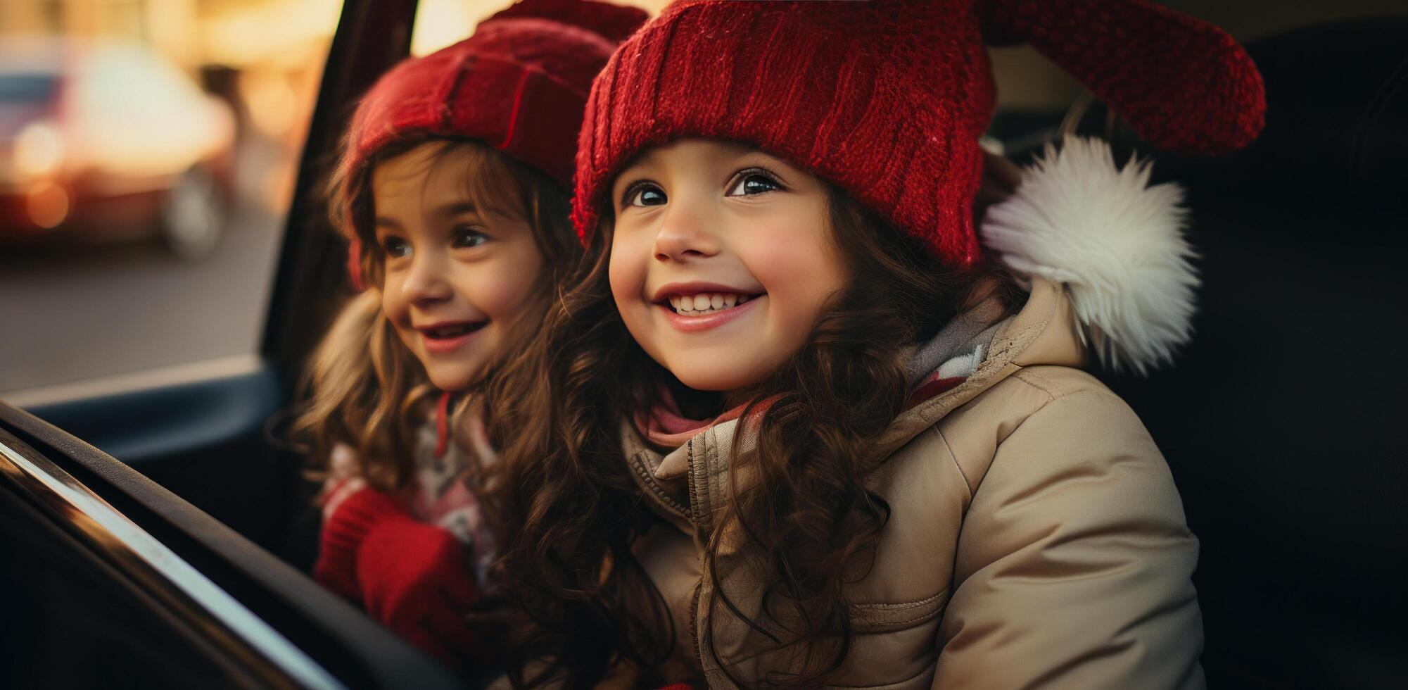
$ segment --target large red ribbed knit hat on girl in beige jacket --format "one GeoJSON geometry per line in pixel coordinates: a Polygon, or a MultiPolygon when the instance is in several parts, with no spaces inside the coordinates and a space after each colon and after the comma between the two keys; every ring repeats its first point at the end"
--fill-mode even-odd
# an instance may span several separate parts
{"type": "Polygon", "coordinates": [[[1146,0],[684,0],[597,77],[577,152],[586,241],[610,179],[679,137],[748,142],[846,189],[955,266],[979,261],[984,42],[1025,41],[1164,149],[1260,131],[1260,75],[1229,35],[1146,0]]]}

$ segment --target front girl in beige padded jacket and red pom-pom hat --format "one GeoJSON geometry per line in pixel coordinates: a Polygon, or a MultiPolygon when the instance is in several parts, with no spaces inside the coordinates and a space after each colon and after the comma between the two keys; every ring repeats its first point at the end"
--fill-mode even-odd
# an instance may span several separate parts
{"type": "Polygon", "coordinates": [[[974,208],[1025,41],[1152,145],[1262,127],[1145,0],[681,1],[597,77],[587,261],[504,370],[518,682],[1200,687],[1198,545],[1083,370],[1190,337],[1171,186],[1069,139],[974,208]]]}

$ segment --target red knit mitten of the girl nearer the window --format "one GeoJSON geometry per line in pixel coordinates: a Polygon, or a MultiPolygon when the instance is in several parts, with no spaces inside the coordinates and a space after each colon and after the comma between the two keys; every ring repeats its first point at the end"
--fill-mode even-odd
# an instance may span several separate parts
{"type": "Polygon", "coordinates": [[[441,660],[484,653],[465,621],[479,590],[459,541],[380,491],[356,491],[324,522],[313,575],[441,660]]]}

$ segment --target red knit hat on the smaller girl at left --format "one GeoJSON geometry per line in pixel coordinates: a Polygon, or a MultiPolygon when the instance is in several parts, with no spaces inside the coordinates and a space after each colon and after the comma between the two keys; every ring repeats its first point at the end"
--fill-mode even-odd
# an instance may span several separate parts
{"type": "MultiPolygon", "coordinates": [[[[341,175],[365,175],[382,146],[413,135],[469,137],[572,189],[591,80],[646,14],[594,0],[522,0],[474,35],[391,68],[358,104],[341,175]]],[[[360,276],[355,220],[349,268],[360,276]]]]}

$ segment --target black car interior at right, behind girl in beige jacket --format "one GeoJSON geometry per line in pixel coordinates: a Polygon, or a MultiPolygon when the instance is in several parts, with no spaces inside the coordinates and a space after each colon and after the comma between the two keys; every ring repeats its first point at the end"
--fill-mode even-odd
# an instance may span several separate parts
{"type": "Polygon", "coordinates": [[[1408,21],[1249,45],[1267,124],[1249,149],[1155,169],[1188,189],[1204,287],[1193,344],[1105,380],[1173,469],[1201,541],[1209,684],[1408,680],[1404,241],[1408,21]],[[1388,355],[1384,359],[1384,355],[1388,355]]]}

